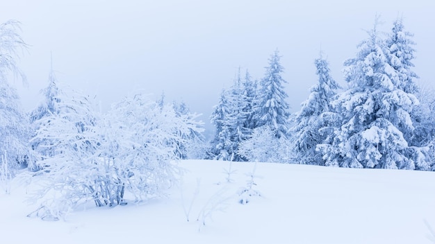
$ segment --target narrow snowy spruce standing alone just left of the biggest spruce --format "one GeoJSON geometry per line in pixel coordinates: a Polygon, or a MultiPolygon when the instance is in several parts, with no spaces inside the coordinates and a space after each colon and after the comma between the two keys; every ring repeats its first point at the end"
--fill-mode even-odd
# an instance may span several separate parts
{"type": "Polygon", "coordinates": [[[295,157],[293,161],[297,164],[324,164],[322,155],[315,148],[325,142],[331,132],[329,128],[336,121],[330,121],[329,118],[332,116],[327,115],[334,114],[331,112],[330,101],[340,86],[330,76],[327,60],[320,57],[315,59],[314,64],[318,84],[311,87],[311,94],[302,103],[301,110],[293,117],[295,125],[290,129],[292,134],[290,148],[295,157]]]}

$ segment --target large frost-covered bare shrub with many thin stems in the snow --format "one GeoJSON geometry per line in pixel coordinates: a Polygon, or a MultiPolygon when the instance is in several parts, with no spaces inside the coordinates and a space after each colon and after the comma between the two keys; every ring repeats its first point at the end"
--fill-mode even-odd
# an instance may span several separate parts
{"type": "Polygon", "coordinates": [[[50,139],[44,146],[52,156],[32,173],[42,184],[34,199],[42,198],[42,213],[59,215],[54,218],[87,201],[114,206],[126,204],[126,193],[135,201],[164,195],[181,173],[179,145],[186,134],[201,132],[190,116],[143,94],[124,98],[105,116],[87,96],[64,97],[59,106],[35,133],[50,139]]]}

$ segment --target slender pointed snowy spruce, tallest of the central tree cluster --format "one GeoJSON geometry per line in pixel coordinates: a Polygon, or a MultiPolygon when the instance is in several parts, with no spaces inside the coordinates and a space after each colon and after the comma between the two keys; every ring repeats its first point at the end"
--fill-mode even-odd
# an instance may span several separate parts
{"type": "Polygon", "coordinates": [[[269,66],[265,68],[265,76],[260,81],[253,107],[255,127],[266,125],[273,128],[277,138],[287,136],[290,116],[290,106],[286,102],[288,95],[284,91],[286,80],[281,77],[284,67],[281,66],[280,58],[278,50],[270,56],[269,66]]]}

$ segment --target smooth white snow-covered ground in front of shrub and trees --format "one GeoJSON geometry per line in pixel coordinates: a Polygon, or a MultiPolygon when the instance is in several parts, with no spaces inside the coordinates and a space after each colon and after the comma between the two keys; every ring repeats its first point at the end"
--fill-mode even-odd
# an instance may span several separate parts
{"type": "Polygon", "coordinates": [[[188,172],[165,199],[57,222],[27,218],[35,206],[14,182],[0,193],[1,243],[431,243],[425,220],[435,229],[433,172],[258,164],[261,196],[243,205],[237,193],[254,164],[234,162],[232,182],[229,162],[180,164],[188,172]]]}

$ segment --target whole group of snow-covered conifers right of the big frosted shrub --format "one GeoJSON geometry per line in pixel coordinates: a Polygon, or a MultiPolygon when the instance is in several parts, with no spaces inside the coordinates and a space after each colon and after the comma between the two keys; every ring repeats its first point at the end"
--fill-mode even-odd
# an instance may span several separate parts
{"type": "Polygon", "coordinates": [[[315,59],[318,82],[299,112],[290,114],[275,51],[265,75],[240,70],[211,115],[215,136],[208,157],[350,168],[432,170],[434,98],[416,85],[413,35],[402,18],[389,33],[378,20],[344,62],[340,87],[325,58],[315,59]]]}

